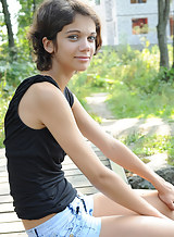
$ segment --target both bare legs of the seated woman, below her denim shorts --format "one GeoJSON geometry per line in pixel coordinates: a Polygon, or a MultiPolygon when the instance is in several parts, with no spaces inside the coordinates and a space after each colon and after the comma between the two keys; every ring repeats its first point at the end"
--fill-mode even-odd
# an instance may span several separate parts
{"type": "MultiPolygon", "coordinates": [[[[174,220],[171,211],[154,190],[135,190],[167,217],[174,220]]],[[[94,216],[101,216],[100,237],[173,237],[174,222],[153,216],[137,215],[102,194],[94,195],[94,216]]]]}

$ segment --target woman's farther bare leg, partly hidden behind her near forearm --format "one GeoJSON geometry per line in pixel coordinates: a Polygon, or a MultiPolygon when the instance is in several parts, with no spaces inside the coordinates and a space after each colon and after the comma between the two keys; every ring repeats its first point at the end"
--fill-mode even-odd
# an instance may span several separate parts
{"type": "MultiPolygon", "coordinates": [[[[161,213],[174,220],[174,212],[171,211],[159,197],[157,190],[134,190],[141,196],[150,204],[157,208],[161,213]]],[[[102,194],[96,194],[94,197],[94,216],[110,216],[110,215],[135,215],[136,213],[117,204],[102,194]]]]}

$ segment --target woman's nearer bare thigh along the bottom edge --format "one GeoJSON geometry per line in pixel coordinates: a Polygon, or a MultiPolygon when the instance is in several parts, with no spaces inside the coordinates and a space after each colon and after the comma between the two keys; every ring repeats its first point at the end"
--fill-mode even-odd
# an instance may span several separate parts
{"type": "Polygon", "coordinates": [[[100,237],[173,237],[174,222],[152,216],[101,217],[100,237]]]}

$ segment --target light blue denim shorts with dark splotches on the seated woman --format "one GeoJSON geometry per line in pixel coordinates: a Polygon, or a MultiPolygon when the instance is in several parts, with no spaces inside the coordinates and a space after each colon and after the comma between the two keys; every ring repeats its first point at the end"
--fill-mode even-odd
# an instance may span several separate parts
{"type": "Polygon", "coordinates": [[[64,211],[26,234],[29,237],[99,237],[101,219],[94,217],[92,211],[92,197],[77,195],[64,211]]]}

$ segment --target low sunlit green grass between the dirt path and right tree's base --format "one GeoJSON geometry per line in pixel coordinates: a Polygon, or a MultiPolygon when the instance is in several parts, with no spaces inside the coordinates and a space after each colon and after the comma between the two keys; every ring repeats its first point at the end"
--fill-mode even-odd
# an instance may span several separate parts
{"type": "Polygon", "coordinates": [[[162,92],[149,95],[117,86],[110,95],[108,104],[116,118],[174,118],[174,88],[170,85],[163,86],[162,92]]]}

